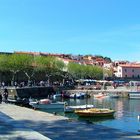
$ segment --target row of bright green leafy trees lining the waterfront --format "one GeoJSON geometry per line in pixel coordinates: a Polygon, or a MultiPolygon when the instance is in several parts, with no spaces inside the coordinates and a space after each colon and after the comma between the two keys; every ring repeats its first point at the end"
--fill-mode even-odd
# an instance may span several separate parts
{"type": "MultiPolygon", "coordinates": [[[[47,77],[55,77],[57,75],[64,79],[70,78],[72,80],[103,78],[104,71],[99,66],[81,65],[70,62],[67,66],[67,72],[64,71],[65,67],[63,61],[51,56],[33,56],[26,54],[0,55],[0,71],[11,72],[13,74],[12,80],[14,80],[14,76],[18,72],[24,73],[28,77],[28,80],[30,80],[31,77],[33,78],[35,73],[43,73],[47,77]]],[[[108,76],[112,74],[110,71],[106,71],[105,73],[107,73],[108,76]]]]}

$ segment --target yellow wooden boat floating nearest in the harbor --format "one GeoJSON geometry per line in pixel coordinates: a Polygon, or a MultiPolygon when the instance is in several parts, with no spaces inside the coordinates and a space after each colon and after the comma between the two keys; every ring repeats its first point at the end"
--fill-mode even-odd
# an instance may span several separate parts
{"type": "Polygon", "coordinates": [[[92,108],[84,110],[75,110],[80,117],[107,117],[113,116],[115,111],[108,108],[92,108]]]}

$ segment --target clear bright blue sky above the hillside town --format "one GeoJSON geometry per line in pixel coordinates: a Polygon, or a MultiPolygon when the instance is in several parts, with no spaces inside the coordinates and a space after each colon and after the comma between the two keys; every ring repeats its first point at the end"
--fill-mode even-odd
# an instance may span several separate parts
{"type": "Polygon", "coordinates": [[[0,51],[140,61],[140,0],[0,0],[0,51]]]}

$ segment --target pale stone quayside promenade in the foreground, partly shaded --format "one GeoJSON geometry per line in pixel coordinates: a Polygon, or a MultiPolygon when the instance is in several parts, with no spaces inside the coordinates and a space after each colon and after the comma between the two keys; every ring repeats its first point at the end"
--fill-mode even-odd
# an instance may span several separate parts
{"type": "Polygon", "coordinates": [[[0,104],[2,140],[100,140],[140,139],[137,133],[70,120],[13,104],[0,104]]]}

